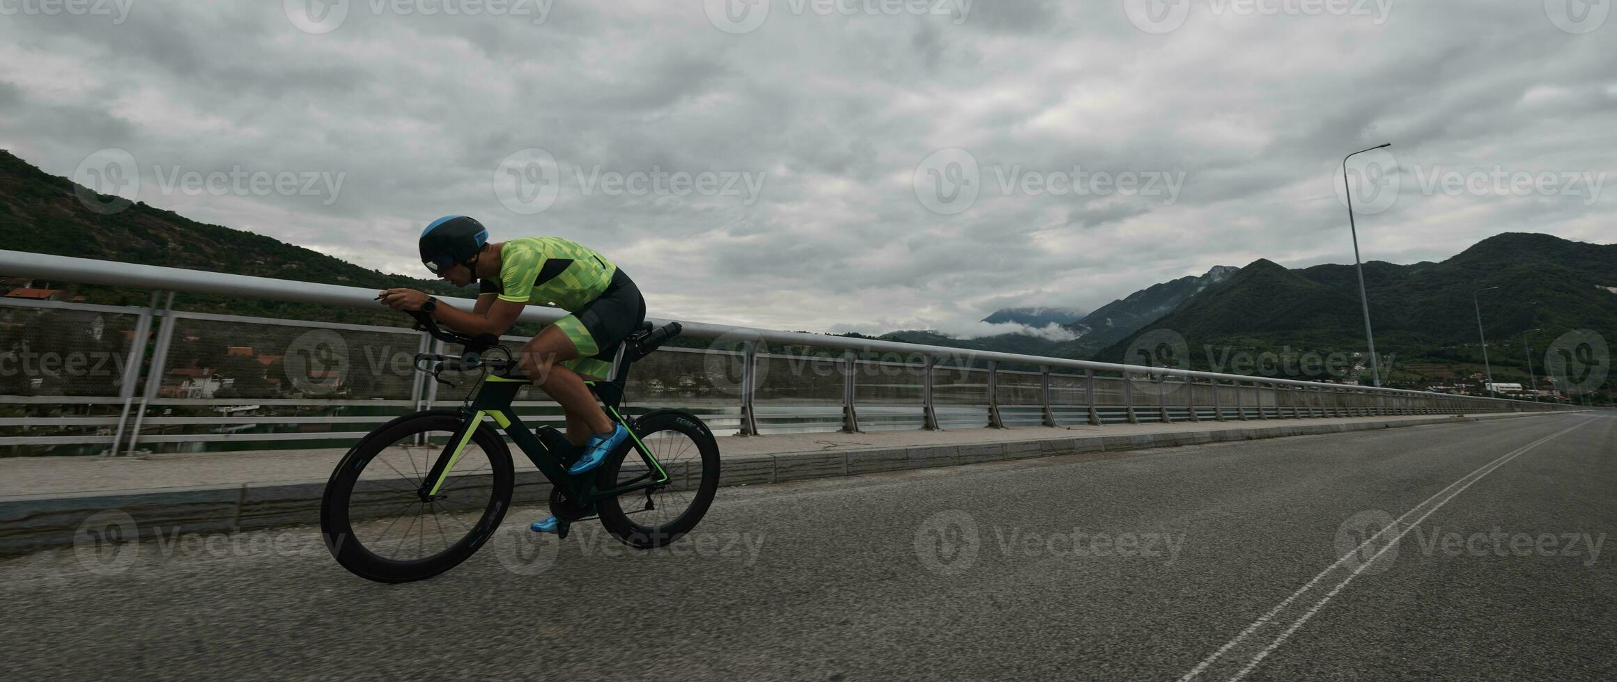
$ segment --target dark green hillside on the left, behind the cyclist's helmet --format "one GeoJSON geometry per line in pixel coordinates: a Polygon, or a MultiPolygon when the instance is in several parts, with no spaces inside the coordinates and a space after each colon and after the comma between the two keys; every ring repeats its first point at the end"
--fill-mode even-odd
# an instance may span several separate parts
{"type": "MultiPolygon", "coordinates": [[[[443,296],[471,294],[469,289],[456,289],[443,281],[369,270],[275,238],[197,223],[144,202],[102,215],[79,202],[78,192],[94,196],[68,178],[47,175],[11,152],[0,150],[0,244],[13,250],[125,263],[377,289],[407,286],[443,296]]],[[[401,244],[401,247],[412,246],[401,244]]],[[[66,288],[92,302],[144,305],[149,301],[149,294],[142,291],[73,283],[60,283],[58,288],[66,288]]],[[[181,297],[176,305],[210,312],[225,312],[222,307],[228,307],[228,312],[241,315],[401,323],[399,315],[380,310],[380,305],[378,310],[369,312],[275,301],[226,301],[197,294],[181,297]]]]}

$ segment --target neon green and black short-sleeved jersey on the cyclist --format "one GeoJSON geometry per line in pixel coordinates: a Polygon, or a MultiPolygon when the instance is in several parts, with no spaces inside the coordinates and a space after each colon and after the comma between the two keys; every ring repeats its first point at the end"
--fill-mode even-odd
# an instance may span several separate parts
{"type": "Polygon", "coordinates": [[[571,239],[511,239],[500,247],[500,281],[483,280],[480,294],[579,312],[606,291],[614,272],[611,260],[571,239]]]}

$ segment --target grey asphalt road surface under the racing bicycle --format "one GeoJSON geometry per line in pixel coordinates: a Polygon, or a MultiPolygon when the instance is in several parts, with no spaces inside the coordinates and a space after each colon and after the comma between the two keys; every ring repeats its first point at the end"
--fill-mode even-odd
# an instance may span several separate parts
{"type": "Polygon", "coordinates": [[[724,488],[655,553],[516,509],[409,585],[81,546],[0,562],[0,674],[1617,679],[1614,490],[1617,419],[1549,415],[724,488]]]}

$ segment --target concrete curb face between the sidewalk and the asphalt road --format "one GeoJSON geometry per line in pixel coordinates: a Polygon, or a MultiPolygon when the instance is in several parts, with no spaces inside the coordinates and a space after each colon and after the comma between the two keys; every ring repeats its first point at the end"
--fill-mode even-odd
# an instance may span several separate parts
{"type": "MultiPolygon", "coordinates": [[[[1277,423],[1208,432],[1087,435],[1007,443],[960,443],[754,454],[724,457],[720,485],[784,483],[792,480],[836,478],[860,474],[1051,457],[1059,454],[1119,453],[1535,415],[1536,414],[1447,415],[1418,420],[1315,425],[1277,423]]],[[[97,524],[95,528],[81,527],[86,525],[84,522],[91,516],[107,511],[128,514],[134,522],[134,533],[142,538],[176,533],[226,533],[319,524],[320,496],[323,490],[325,480],[302,480],[202,488],[3,496],[0,498],[0,556],[26,554],[53,546],[73,545],[74,537],[81,532],[100,532],[100,524],[97,524]]],[[[538,504],[543,503],[548,495],[550,483],[545,482],[538,472],[517,472],[513,506],[538,504]]]]}

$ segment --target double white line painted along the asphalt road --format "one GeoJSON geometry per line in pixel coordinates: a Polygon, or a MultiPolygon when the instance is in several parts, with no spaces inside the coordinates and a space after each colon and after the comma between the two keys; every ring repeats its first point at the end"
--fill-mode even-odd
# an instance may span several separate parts
{"type": "Polygon", "coordinates": [[[1439,507],[1442,507],[1444,504],[1447,504],[1449,499],[1454,499],[1454,496],[1457,496],[1462,491],[1465,491],[1465,488],[1470,488],[1471,483],[1476,483],[1484,475],[1488,475],[1494,469],[1499,469],[1505,462],[1509,462],[1509,461],[1522,456],[1523,453],[1526,453],[1526,451],[1530,451],[1533,448],[1538,448],[1538,446],[1547,443],[1549,440],[1552,440],[1556,436],[1560,436],[1564,433],[1577,430],[1577,428],[1580,428],[1580,427],[1583,427],[1586,423],[1591,423],[1591,422],[1594,422],[1594,419],[1585,420],[1581,423],[1575,423],[1575,425],[1567,427],[1567,428],[1564,428],[1560,432],[1551,433],[1551,435],[1547,435],[1544,438],[1539,438],[1539,440],[1536,440],[1533,443],[1528,443],[1528,444],[1525,444],[1525,446],[1522,446],[1522,448],[1518,448],[1518,449],[1515,449],[1512,453],[1507,453],[1507,454],[1501,456],[1499,459],[1494,459],[1492,462],[1488,462],[1488,464],[1481,465],[1480,469],[1476,469],[1471,474],[1467,474],[1460,480],[1457,480],[1454,483],[1449,483],[1449,486],[1439,490],[1431,498],[1426,498],[1426,501],[1416,504],[1413,509],[1410,509],[1404,516],[1397,517],[1397,520],[1394,520],[1392,524],[1387,524],[1386,528],[1381,528],[1379,532],[1376,532],[1374,535],[1371,535],[1370,538],[1366,538],[1363,543],[1360,543],[1358,546],[1355,546],[1353,549],[1350,549],[1347,554],[1342,554],[1342,558],[1336,559],[1336,562],[1332,562],[1324,570],[1321,570],[1318,575],[1315,575],[1311,580],[1308,580],[1307,583],[1303,583],[1303,587],[1297,588],[1297,591],[1294,591],[1284,601],[1281,601],[1273,609],[1269,609],[1269,613],[1266,613],[1261,617],[1258,617],[1256,621],[1253,621],[1250,625],[1247,625],[1245,630],[1240,630],[1240,634],[1235,635],[1235,638],[1226,642],[1224,646],[1218,648],[1218,651],[1213,651],[1208,658],[1201,659],[1201,663],[1198,663],[1195,667],[1192,667],[1190,672],[1185,672],[1182,677],[1179,677],[1179,682],[1188,682],[1188,680],[1195,679],[1197,676],[1200,676],[1201,672],[1205,672],[1210,666],[1213,666],[1216,661],[1219,661],[1221,658],[1224,658],[1226,653],[1229,653],[1232,648],[1235,648],[1237,645],[1240,645],[1242,642],[1245,642],[1248,637],[1252,637],[1252,634],[1258,632],[1258,629],[1261,629],[1261,627],[1268,625],[1269,622],[1273,622],[1276,614],[1279,614],[1282,609],[1286,609],[1286,606],[1290,606],[1292,601],[1297,601],[1297,598],[1303,596],[1308,590],[1313,590],[1313,587],[1318,585],[1321,580],[1324,580],[1326,575],[1329,575],[1332,570],[1336,570],[1339,567],[1344,567],[1344,564],[1347,564],[1349,559],[1352,559],[1353,556],[1358,556],[1360,549],[1363,549],[1365,546],[1368,546],[1373,541],[1376,541],[1376,538],[1379,538],[1383,533],[1389,533],[1391,530],[1395,530],[1395,527],[1399,527],[1400,524],[1404,524],[1405,519],[1415,516],[1416,512],[1421,512],[1421,507],[1426,507],[1428,504],[1431,506],[1429,509],[1426,509],[1425,512],[1421,512],[1418,519],[1415,519],[1413,522],[1410,522],[1402,532],[1399,532],[1395,537],[1392,537],[1392,540],[1387,541],[1387,545],[1383,546],[1381,551],[1378,551],[1368,561],[1358,562],[1357,567],[1353,567],[1352,572],[1342,582],[1339,582],[1334,588],[1331,588],[1329,593],[1324,595],[1324,598],[1321,598],[1311,608],[1308,608],[1308,611],[1305,611],[1295,622],[1292,622],[1292,625],[1287,627],[1286,632],[1281,632],[1279,637],[1276,637],[1273,642],[1269,642],[1268,646],[1264,646],[1261,651],[1258,651],[1252,658],[1252,661],[1247,663],[1245,667],[1242,667],[1239,672],[1235,672],[1232,677],[1229,677],[1229,682],[1235,682],[1235,680],[1245,677],[1248,672],[1252,672],[1258,666],[1260,661],[1263,661],[1264,656],[1268,656],[1271,651],[1274,651],[1282,643],[1286,643],[1286,640],[1292,635],[1292,632],[1297,632],[1297,629],[1302,627],[1303,622],[1308,622],[1308,619],[1313,617],[1315,613],[1318,613],[1321,608],[1324,608],[1324,604],[1328,601],[1331,601],[1331,598],[1334,598],[1337,591],[1342,591],[1342,588],[1347,587],[1349,582],[1352,582],[1355,577],[1358,577],[1358,574],[1363,572],[1368,566],[1374,564],[1376,559],[1379,559],[1383,553],[1386,553],[1387,549],[1391,549],[1392,546],[1395,546],[1397,541],[1400,538],[1404,538],[1404,535],[1408,535],[1408,532],[1415,528],[1415,525],[1418,525],[1421,520],[1425,520],[1434,511],[1438,511],[1439,507]],[[1450,490],[1452,490],[1452,493],[1450,493],[1450,490]]]}

